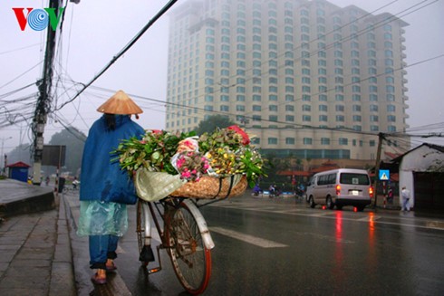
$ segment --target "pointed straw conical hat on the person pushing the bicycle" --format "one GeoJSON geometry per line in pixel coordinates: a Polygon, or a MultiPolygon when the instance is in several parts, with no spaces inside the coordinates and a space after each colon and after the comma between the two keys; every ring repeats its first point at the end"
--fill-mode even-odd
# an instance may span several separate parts
{"type": "Polygon", "coordinates": [[[143,110],[124,91],[117,91],[97,109],[108,114],[140,114],[143,110]]]}

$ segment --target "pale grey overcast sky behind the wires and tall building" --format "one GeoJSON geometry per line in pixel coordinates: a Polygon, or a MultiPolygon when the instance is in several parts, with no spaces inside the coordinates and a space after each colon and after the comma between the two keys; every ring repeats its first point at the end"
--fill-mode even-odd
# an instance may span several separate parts
{"type": "MultiPolygon", "coordinates": [[[[183,0],[179,0],[179,5],[183,0]]],[[[444,0],[331,0],[340,7],[357,5],[372,12],[388,5],[378,13],[389,12],[403,15],[402,20],[410,25],[405,27],[406,62],[410,64],[428,60],[444,54],[444,0]],[[424,8],[421,6],[428,5],[424,8]],[[415,8],[401,13],[413,5],[415,8]],[[413,11],[418,9],[417,11],[413,11]]],[[[55,63],[55,75],[62,77],[58,82],[61,96],[58,106],[72,98],[75,93],[73,82],[87,83],[111,61],[112,57],[130,42],[131,38],[157,14],[167,0],[82,0],[79,5],[69,4],[63,24],[63,38],[55,63]]],[[[0,2],[0,96],[34,83],[42,76],[44,38],[46,30],[33,31],[27,27],[20,31],[12,7],[43,8],[47,1],[14,0],[0,2]]],[[[111,66],[93,86],[111,90],[123,90],[154,100],[165,100],[167,81],[168,17],[165,15],[145,33],[138,43],[111,66]]],[[[408,104],[410,129],[438,124],[444,132],[440,84],[444,81],[444,57],[424,62],[408,69],[408,104]]],[[[77,89],[79,89],[78,87],[77,89]]],[[[24,96],[36,91],[36,87],[20,92],[24,96]]],[[[100,116],[96,111],[111,93],[89,88],[71,104],[55,113],[63,124],[81,129],[87,133],[92,122],[100,116]]],[[[11,97],[8,97],[11,98],[11,97]]],[[[0,97],[0,100],[5,98],[0,97]]],[[[134,98],[144,109],[139,123],[146,129],[163,129],[165,110],[161,103],[134,98]]],[[[24,106],[25,108],[25,106],[24,106]]],[[[44,138],[47,142],[54,132],[63,126],[49,119],[44,138]]],[[[427,132],[427,129],[420,129],[427,132]]],[[[439,131],[433,129],[432,131],[439,131]]],[[[25,124],[0,129],[0,138],[5,140],[5,152],[19,143],[29,143],[30,131],[25,124]],[[22,135],[22,137],[20,137],[22,135]]],[[[430,138],[427,139],[430,142],[430,138]]]]}

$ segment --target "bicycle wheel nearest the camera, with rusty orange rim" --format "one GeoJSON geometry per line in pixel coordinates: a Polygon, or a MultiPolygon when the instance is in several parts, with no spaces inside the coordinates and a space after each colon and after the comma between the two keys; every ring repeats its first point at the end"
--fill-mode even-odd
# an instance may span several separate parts
{"type": "Polygon", "coordinates": [[[202,293],[211,275],[211,253],[188,205],[182,202],[177,207],[169,207],[165,228],[169,257],[179,281],[188,293],[202,293]]]}

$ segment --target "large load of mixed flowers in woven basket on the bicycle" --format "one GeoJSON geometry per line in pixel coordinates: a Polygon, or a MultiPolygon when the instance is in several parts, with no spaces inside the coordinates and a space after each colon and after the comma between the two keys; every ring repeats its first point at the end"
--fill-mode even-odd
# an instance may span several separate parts
{"type": "Polygon", "coordinates": [[[165,196],[236,196],[265,175],[264,160],[237,126],[199,138],[194,132],[148,130],[141,139],[123,140],[113,153],[121,168],[134,176],[138,195],[150,201],[165,196]]]}

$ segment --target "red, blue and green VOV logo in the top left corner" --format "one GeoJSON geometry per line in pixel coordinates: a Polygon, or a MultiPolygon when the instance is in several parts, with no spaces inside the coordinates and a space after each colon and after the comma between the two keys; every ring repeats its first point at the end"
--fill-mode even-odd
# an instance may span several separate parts
{"type": "Polygon", "coordinates": [[[27,14],[24,16],[24,7],[14,7],[14,14],[17,18],[20,29],[24,31],[26,24],[34,31],[42,31],[51,24],[53,31],[57,29],[63,15],[64,7],[59,8],[59,14],[55,14],[55,8],[26,8],[27,14]]]}

